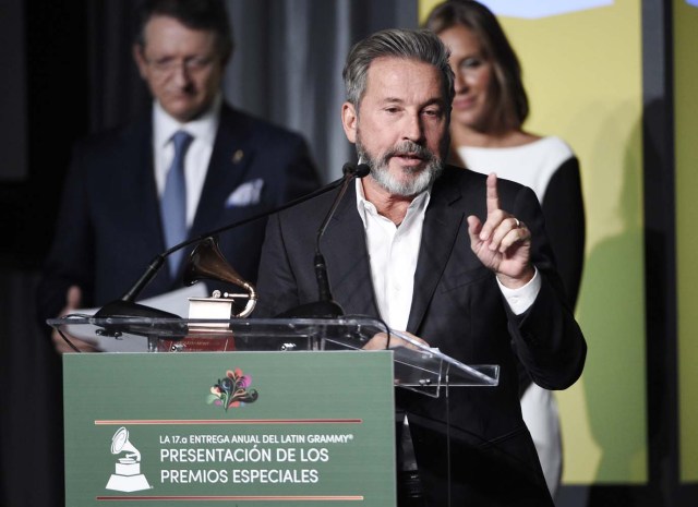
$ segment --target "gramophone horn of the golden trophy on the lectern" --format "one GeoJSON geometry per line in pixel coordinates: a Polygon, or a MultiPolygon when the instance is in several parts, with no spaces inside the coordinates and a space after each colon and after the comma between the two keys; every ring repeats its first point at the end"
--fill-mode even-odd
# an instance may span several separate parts
{"type": "Polygon", "coordinates": [[[234,317],[246,317],[254,310],[257,303],[257,293],[254,287],[238,275],[232,266],[228,264],[218,248],[218,242],[213,237],[206,238],[196,245],[184,267],[183,282],[185,285],[191,286],[202,279],[226,281],[246,291],[246,294],[239,295],[246,298],[248,304],[245,304],[242,312],[233,315],[234,317]]]}

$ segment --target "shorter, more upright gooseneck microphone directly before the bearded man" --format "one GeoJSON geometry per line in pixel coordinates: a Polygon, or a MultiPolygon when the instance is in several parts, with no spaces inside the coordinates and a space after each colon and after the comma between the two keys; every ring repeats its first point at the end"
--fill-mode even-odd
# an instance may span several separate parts
{"type": "Polygon", "coordinates": [[[278,315],[279,317],[338,317],[345,313],[341,306],[333,300],[329,279],[327,277],[327,264],[325,263],[325,256],[320,248],[320,241],[325,234],[327,225],[335,215],[337,206],[339,206],[341,198],[347,192],[349,183],[351,183],[356,178],[363,178],[368,176],[371,172],[371,168],[366,164],[353,165],[351,162],[347,162],[341,168],[341,171],[344,173],[341,188],[339,189],[329,212],[327,212],[325,219],[317,229],[317,236],[315,239],[315,257],[313,263],[315,267],[315,281],[317,282],[317,301],[287,310],[282,314],[278,315]]]}

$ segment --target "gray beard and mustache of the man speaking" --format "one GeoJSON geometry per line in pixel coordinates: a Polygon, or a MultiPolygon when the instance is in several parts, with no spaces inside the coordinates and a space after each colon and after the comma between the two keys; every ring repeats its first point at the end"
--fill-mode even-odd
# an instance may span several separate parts
{"type": "Polygon", "coordinates": [[[392,149],[384,152],[377,157],[372,157],[366,152],[361,135],[357,134],[357,154],[359,160],[365,162],[371,168],[373,178],[385,191],[393,195],[411,197],[426,190],[438,178],[444,169],[443,160],[432,150],[412,141],[404,141],[392,149]],[[398,178],[390,174],[388,162],[390,158],[399,155],[414,155],[426,161],[426,167],[407,167],[402,169],[402,176],[412,174],[408,178],[398,178]]]}

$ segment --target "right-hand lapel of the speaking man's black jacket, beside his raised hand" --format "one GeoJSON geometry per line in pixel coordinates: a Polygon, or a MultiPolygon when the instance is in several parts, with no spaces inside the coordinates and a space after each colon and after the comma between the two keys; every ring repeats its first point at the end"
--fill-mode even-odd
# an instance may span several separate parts
{"type": "Polygon", "coordinates": [[[414,295],[407,323],[407,330],[418,334],[436,286],[450,257],[458,231],[467,227],[464,213],[450,207],[460,200],[460,192],[453,186],[434,185],[426,208],[422,242],[414,273],[414,295]]]}

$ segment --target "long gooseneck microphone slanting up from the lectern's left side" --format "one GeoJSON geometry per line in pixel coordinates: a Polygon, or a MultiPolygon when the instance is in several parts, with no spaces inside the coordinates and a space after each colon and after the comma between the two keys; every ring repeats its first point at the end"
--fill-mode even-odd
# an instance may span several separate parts
{"type": "MultiPolygon", "coordinates": [[[[345,166],[346,167],[346,166],[345,166]]],[[[230,229],[234,229],[236,227],[241,227],[246,224],[250,224],[255,220],[260,220],[263,218],[267,218],[275,213],[282,212],[291,206],[296,206],[297,204],[301,204],[308,200],[316,197],[317,195],[322,195],[326,192],[330,192],[340,185],[346,185],[347,176],[339,178],[336,181],[333,181],[326,186],[318,189],[310,194],[303,195],[302,197],[298,197],[293,201],[290,201],[286,204],[275,207],[268,212],[263,212],[252,217],[244,218],[242,220],[234,221],[232,224],[228,224],[227,226],[220,227],[218,229],[210,230],[205,232],[196,238],[182,241],[179,244],[166,250],[163,253],[156,255],[151,264],[146,267],[145,271],[141,277],[133,283],[133,286],[118,300],[111,301],[105,304],[97,313],[95,313],[95,317],[97,318],[108,318],[108,317],[155,317],[155,318],[180,318],[179,315],[174,315],[173,313],[165,312],[163,310],[154,309],[151,306],[146,306],[144,304],[139,304],[135,302],[135,299],[143,291],[143,289],[155,278],[155,276],[165,264],[167,257],[169,257],[173,252],[185,249],[192,244],[201,243],[208,238],[225,232],[230,229]]]]}

